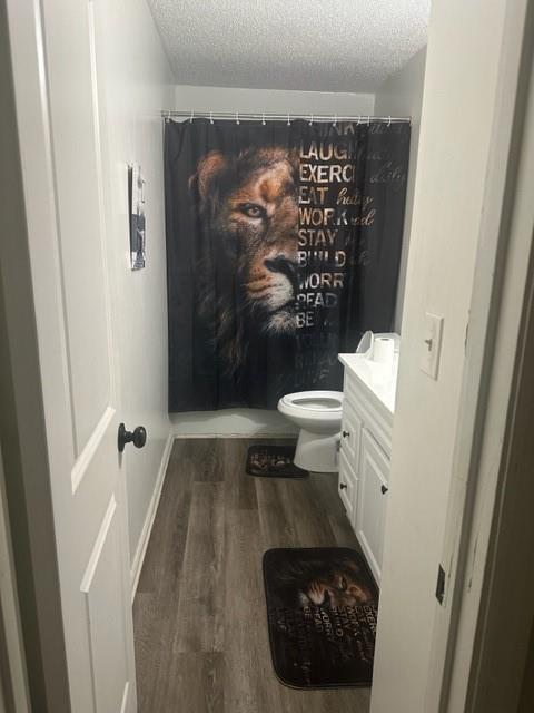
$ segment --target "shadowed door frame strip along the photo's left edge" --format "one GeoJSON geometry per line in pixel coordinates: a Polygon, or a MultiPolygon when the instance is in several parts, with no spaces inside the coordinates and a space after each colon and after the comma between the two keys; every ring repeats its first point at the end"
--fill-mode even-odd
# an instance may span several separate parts
{"type": "MultiPolygon", "coordinates": [[[[6,500],[20,605],[28,693],[34,710],[69,711],[50,469],[37,341],[28,216],[19,146],[10,21],[24,46],[27,120],[46,126],[41,115],[42,36],[39,6],[20,3],[8,19],[0,3],[0,158],[4,212],[0,255],[0,440],[6,500]],[[34,114],[33,114],[34,113],[34,114]],[[46,563],[46,566],[42,566],[46,563]]],[[[22,78],[18,77],[21,81],[22,78]]],[[[37,134],[39,138],[39,134],[37,134]]],[[[36,141],[39,143],[38,140],[36,141]]],[[[36,155],[36,180],[47,174],[50,146],[42,137],[36,155]]],[[[48,178],[48,177],[47,177],[48,178]]],[[[43,228],[50,194],[42,184],[43,228]]],[[[11,665],[16,662],[10,661],[11,665]]]]}

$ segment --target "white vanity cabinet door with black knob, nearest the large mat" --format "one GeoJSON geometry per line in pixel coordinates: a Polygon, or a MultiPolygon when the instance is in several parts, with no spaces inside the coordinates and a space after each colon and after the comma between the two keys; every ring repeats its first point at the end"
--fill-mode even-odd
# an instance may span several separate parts
{"type": "Polygon", "coordinates": [[[376,578],[380,582],[386,519],[389,459],[364,428],[359,461],[356,537],[376,578]]]}

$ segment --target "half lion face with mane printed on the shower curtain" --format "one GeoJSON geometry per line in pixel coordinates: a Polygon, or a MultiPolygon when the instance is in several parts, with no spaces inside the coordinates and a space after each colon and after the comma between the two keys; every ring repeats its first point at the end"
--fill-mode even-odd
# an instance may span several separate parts
{"type": "Polygon", "coordinates": [[[190,178],[199,205],[200,314],[235,374],[258,334],[296,331],[298,159],[279,146],[214,150],[190,178]]]}

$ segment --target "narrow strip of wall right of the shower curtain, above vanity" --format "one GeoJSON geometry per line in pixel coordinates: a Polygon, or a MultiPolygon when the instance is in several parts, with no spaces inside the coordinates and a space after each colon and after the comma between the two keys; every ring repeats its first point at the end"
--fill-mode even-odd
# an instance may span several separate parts
{"type": "Polygon", "coordinates": [[[406,287],[406,267],[408,262],[409,234],[412,231],[412,211],[414,204],[415,174],[417,168],[417,147],[419,143],[421,109],[423,106],[423,84],[425,80],[426,47],[395,75],[379,87],[375,97],[377,116],[411,116],[412,140],[409,145],[409,173],[406,186],[406,215],[404,218],[403,252],[398,275],[397,305],[395,310],[395,332],[402,331],[404,292],[406,287]]]}

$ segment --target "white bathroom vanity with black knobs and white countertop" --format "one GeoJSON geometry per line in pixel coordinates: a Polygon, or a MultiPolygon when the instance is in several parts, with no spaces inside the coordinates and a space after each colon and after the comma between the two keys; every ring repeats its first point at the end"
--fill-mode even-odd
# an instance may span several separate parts
{"type": "Polygon", "coordinates": [[[398,354],[387,367],[364,354],[339,354],[339,361],[345,379],[338,491],[379,584],[398,354]]]}

